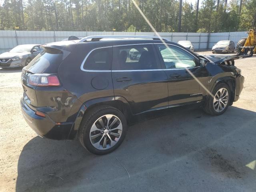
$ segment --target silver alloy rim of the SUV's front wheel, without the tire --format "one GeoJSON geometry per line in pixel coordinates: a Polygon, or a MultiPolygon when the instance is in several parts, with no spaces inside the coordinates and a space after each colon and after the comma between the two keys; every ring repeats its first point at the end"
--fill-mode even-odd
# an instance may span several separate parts
{"type": "Polygon", "coordinates": [[[220,88],[213,99],[213,106],[216,112],[222,112],[228,105],[228,90],[220,88]]]}

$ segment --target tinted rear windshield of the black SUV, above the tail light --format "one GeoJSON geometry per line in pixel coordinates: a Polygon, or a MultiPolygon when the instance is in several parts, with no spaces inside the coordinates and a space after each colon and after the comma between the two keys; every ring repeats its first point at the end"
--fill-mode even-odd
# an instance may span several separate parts
{"type": "Polygon", "coordinates": [[[41,52],[26,66],[26,70],[32,73],[57,73],[62,62],[63,54],[41,52]]]}

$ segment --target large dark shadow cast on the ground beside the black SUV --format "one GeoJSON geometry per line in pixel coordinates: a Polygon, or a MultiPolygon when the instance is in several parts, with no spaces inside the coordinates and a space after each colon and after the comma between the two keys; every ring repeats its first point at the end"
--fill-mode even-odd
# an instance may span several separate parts
{"type": "Polygon", "coordinates": [[[37,136],[19,156],[16,191],[145,191],[148,185],[159,191],[160,184],[166,191],[176,185],[205,191],[191,178],[210,185],[218,181],[211,172],[255,185],[255,171],[244,166],[255,160],[255,123],[256,112],[234,106],[221,116],[180,111],[130,126],[123,144],[104,156],[90,154],[76,140],[37,136]]]}

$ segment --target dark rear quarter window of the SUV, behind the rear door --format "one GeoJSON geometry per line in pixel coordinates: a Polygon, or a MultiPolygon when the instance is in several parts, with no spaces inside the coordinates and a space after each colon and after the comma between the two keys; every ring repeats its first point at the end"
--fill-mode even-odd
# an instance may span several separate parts
{"type": "Polygon", "coordinates": [[[85,70],[110,70],[112,47],[99,48],[92,51],[84,63],[85,70]]]}

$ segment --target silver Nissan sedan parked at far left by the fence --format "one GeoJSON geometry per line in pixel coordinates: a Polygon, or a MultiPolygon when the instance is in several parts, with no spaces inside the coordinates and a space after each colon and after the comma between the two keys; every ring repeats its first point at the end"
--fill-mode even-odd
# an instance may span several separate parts
{"type": "Polygon", "coordinates": [[[38,44],[18,45],[9,52],[0,54],[0,67],[24,67],[42,51],[38,44]]]}

